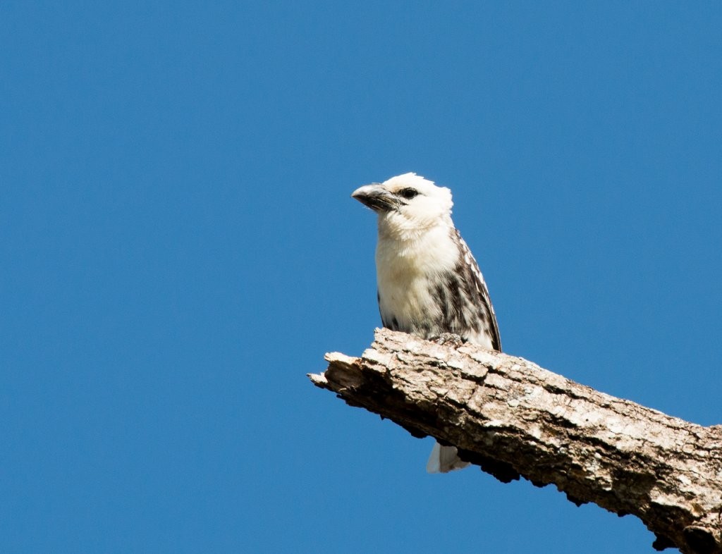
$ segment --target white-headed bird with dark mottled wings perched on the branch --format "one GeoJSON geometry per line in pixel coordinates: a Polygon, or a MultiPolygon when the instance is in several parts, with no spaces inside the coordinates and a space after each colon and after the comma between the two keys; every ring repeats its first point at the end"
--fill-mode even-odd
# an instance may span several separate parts
{"type": "MultiPolygon", "coordinates": [[[[378,216],[376,281],[383,327],[423,339],[445,333],[501,351],[496,314],[479,265],[451,219],[451,190],[404,173],[352,193],[378,216]]],[[[427,472],[469,465],[436,443],[427,472]]]]}

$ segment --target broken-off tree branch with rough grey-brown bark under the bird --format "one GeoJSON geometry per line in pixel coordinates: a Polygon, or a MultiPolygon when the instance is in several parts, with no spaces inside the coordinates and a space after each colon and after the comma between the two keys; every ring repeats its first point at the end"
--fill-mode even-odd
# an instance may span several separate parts
{"type": "Polygon", "coordinates": [[[670,417],[453,335],[379,329],[360,358],[326,361],[313,384],[456,446],[503,482],[523,476],[575,504],[638,516],[656,550],[722,553],[722,426],[670,417]]]}

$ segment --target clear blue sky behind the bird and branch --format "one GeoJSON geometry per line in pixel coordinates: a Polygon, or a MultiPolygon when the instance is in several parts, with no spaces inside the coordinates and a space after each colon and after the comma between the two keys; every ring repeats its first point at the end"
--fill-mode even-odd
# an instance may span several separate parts
{"type": "Polygon", "coordinates": [[[722,5],[0,4],[0,550],[651,552],[316,390],[357,186],[453,190],[505,351],[722,423],[722,5]]]}

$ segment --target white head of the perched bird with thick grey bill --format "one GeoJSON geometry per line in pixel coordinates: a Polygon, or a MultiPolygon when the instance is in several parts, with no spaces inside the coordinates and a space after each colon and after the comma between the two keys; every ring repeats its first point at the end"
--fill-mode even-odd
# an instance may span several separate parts
{"type": "Polygon", "coordinates": [[[375,211],[379,226],[392,232],[422,232],[439,224],[451,225],[451,190],[415,173],[364,185],[351,196],[375,211]]]}

